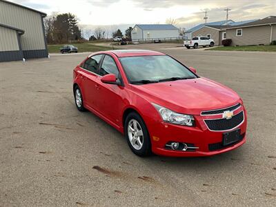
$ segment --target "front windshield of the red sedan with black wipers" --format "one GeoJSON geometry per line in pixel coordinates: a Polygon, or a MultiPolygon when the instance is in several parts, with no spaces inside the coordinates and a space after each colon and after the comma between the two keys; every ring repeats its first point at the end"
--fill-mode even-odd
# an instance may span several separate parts
{"type": "Polygon", "coordinates": [[[130,83],[152,83],[197,78],[193,72],[168,55],[121,57],[130,83]]]}

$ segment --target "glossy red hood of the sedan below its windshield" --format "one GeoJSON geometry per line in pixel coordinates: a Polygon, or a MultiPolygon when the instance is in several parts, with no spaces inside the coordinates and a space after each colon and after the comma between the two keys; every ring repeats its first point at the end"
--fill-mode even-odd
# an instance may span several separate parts
{"type": "Polygon", "coordinates": [[[182,112],[199,115],[202,110],[226,108],[239,102],[239,95],[230,88],[206,78],[132,85],[133,90],[152,103],[182,112]]]}

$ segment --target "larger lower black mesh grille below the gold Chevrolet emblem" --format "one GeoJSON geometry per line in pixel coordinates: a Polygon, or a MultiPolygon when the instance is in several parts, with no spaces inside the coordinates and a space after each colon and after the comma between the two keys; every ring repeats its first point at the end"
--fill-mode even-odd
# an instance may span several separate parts
{"type": "Polygon", "coordinates": [[[209,130],[224,131],[230,130],[238,126],[244,121],[244,111],[239,112],[231,119],[209,119],[204,120],[209,130]]]}

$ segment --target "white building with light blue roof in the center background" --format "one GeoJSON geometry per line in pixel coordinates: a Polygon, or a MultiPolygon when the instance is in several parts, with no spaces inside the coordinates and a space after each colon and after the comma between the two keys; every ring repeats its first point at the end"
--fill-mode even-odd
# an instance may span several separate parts
{"type": "Polygon", "coordinates": [[[137,24],[131,31],[132,41],[178,37],[179,29],[172,24],[137,24]]]}

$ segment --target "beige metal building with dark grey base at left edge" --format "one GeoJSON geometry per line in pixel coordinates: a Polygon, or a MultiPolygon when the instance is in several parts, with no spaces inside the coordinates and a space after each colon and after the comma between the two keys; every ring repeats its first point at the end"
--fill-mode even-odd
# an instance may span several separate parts
{"type": "Polygon", "coordinates": [[[0,62],[48,57],[43,24],[46,15],[0,0],[0,62]]]}

